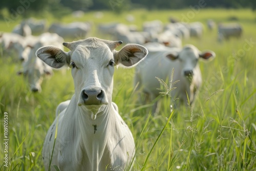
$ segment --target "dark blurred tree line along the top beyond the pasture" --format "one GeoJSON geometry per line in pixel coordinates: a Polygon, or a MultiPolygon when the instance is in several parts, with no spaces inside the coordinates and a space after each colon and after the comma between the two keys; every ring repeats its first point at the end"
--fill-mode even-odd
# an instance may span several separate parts
{"type": "Polygon", "coordinates": [[[251,8],[256,9],[255,0],[2,0],[0,10],[7,9],[10,13],[62,11],[68,13],[74,10],[113,10],[121,12],[134,8],[182,9],[204,4],[204,8],[251,8]]]}

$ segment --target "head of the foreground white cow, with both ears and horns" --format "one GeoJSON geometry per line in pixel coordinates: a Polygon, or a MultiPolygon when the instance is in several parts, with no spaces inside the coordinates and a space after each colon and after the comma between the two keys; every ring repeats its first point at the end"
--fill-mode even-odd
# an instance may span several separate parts
{"type": "Polygon", "coordinates": [[[122,41],[109,41],[95,37],[64,42],[70,51],[64,52],[54,46],[38,49],[36,55],[53,68],[72,68],[77,105],[91,111],[92,118],[111,104],[114,66],[135,66],[143,59],[147,50],[130,44],[120,51],[114,50],[122,41]]]}

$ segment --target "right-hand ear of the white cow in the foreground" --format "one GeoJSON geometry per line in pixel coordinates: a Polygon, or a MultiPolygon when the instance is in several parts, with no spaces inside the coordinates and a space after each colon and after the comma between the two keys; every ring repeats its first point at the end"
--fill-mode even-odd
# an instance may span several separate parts
{"type": "Polygon", "coordinates": [[[117,65],[124,68],[134,67],[144,59],[148,51],[145,47],[137,44],[125,45],[120,51],[114,51],[114,59],[117,65]]]}

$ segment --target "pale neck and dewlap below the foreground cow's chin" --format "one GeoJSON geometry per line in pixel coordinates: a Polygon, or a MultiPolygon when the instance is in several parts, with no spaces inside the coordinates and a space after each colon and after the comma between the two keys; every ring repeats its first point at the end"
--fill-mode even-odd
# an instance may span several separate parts
{"type": "MultiPolygon", "coordinates": [[[[78,106],[77,106],[78,107],[78,106]]],[[[79,108],[79,107],[78,107],[79,108]]],[[[78,132],[79,132],[79,146],[83,152],[86,152],[92,163],[92,169],[99,166],[99,163],[105,154],[107,144],[109,142],[110,134],[112,134],[112,127],[114,126],[113,119],[115,115],[112,102],[105,106],[104,112],[97,114],[96,119],[92,119],[90,115],[84,113],[77,113],[78,118],[78,132]]],[[[97,170],[97,169],[96,169],[97,170]]]]}

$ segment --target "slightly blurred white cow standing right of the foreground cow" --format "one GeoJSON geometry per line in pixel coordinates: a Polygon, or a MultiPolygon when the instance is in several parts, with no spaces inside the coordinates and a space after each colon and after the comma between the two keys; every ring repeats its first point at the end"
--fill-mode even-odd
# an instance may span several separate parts
{"type": "MultiPolygon", "coordinates": [[[[161,44],[148,43],[144,45],[148,49],[146,59],[136,67],[135,85],[138,89],[154,100],[159,96],[160,82],[169,80],[174,68],[173,82],[180,80],[172,86],[177,87],[170,92],[173,99],[179,98],[178,102],[172,102],[174,107],[187,102],[187,95],[190,104],[193,103],[197,90],[201,87],[202,77],[198,59],[210,59],[215,57],[212,51],[200,52],[193,45],[186,45],[182,49],[168,48],[161,44]]],[[[159,112],[155,103],[153,112],[159,112]]]]}

